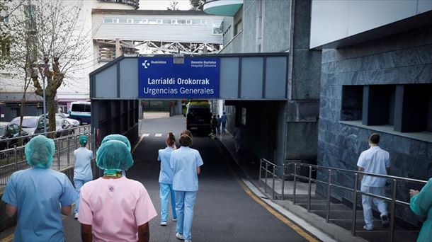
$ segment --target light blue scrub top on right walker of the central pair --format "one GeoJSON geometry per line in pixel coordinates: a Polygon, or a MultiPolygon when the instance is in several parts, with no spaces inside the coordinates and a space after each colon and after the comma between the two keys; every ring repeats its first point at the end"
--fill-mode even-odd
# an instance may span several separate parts
{"type": "Polygon", "coordinates": [[[198,191],[196,168],[203,166],[200,152],[187,146],[181,146],[171,153],[171,168],[174,169],[173,190],[198,191]]]}

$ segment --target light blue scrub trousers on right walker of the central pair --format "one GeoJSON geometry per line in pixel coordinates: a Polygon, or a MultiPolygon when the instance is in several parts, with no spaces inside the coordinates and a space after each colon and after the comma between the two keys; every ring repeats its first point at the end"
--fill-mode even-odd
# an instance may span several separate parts
{"type": "Polygon", "coordinates": [[[183,234],[185,240],[192,240],[192,219],[193,219],[193,205],[195,204],[196,192],[176,192],[176,212],[177,212],[177,226],[176,232],[183,234]]]}

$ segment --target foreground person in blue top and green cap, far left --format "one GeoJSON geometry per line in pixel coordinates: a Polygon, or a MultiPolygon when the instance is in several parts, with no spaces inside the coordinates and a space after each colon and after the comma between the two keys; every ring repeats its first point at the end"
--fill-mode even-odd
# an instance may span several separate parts
{"type": "Polygon", "coordinates": [[[6,214],[18,213],[13,241],[64,241],[62,215],[69,215],[77,196],[64,173],[50,169],[55,144],[38,135],[25,146],[31,168],[16,171],[1,200],[6,214]]]}

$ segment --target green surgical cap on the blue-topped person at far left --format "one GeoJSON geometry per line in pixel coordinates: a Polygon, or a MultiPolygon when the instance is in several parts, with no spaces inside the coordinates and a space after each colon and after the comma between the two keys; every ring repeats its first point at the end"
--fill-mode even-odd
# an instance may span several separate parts
{"type": "Polygon", "coordinates": [[[25,145],[25,158],[29,166],[50,168],[55,144],[52,139],[38,135],[25,145]]]}

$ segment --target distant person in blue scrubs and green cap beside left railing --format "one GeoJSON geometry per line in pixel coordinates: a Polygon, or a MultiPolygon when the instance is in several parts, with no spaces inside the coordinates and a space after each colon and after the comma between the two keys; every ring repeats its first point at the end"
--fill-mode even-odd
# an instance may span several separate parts
{"type": "Polygon", "coordinates": [[[75,201],[75,219],[78,219],[79,209],[79,190],[82,185],[93,180],[93,173],[91,172],[91,159],[93,159],[93,151],[87,149],[87,137],[81,135],[79,137],[79,144],[81,147],[74,151],[75,166],[74,166],[74,185],[78,199],[75,201]]]}

